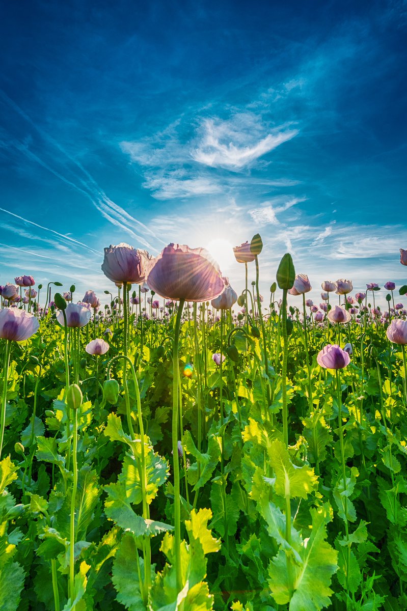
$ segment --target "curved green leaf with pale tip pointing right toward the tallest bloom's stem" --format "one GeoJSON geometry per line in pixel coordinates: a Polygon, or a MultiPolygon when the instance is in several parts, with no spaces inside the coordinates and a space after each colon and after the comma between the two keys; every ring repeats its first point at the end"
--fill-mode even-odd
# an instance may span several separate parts
{"type": "Polygon", "coordinates": [[[106,516],[122,529],[130,530],[135,536],[155,536],[164,530],[172,530],[171,525],[144,519],[134,513],[128,502],[125,487],[119,482],[109,484],[104,489],[108,492],[105,501],[106,516]]]}

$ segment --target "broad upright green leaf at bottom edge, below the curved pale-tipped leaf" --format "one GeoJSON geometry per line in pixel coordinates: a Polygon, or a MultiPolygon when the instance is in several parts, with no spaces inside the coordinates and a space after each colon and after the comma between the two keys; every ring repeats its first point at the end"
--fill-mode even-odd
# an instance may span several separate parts
{"type": "MultiPolygon", "coordinates": [[[[134,537],[125,533],[120,541],[112,568],[112,583],[117,591],[116,599],[129,611],[145,611],[140,589],[138,566],[144,579],[144,562],[139,556],[134,537]]],[[[152,580],[154,570],[152,569],[152,580]]]]}

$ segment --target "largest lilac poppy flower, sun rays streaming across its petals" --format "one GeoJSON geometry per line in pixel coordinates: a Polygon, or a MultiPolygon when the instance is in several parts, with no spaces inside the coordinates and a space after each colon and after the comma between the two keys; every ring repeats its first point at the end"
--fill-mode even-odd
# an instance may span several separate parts
{"type": "Polygon", "coordinates": [[[207,301],[225,288],[216,263],[203,248],[171,243],[156,257],[147,283],[165,299],[207,301]]]}

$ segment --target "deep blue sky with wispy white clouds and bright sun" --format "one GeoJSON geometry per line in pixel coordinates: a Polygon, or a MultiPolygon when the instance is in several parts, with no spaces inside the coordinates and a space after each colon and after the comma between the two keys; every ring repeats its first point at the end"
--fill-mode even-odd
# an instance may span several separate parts
{"type": "Polygon", "coordinates": [[[406,25],[405,0],[5,4],[0,284],[102,293],[108,244],[257,232],[265,295],[286,251],[315,299],[402,284],[406,25]]]}

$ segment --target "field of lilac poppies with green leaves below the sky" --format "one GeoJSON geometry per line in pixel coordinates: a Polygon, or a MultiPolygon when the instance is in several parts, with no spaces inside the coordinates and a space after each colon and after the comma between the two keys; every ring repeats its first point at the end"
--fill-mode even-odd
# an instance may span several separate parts
{"type": "Polygon", "coordinates": [[[1,610],[407,609],[407,286],[234,251],[0,287],[1,610]]]}

